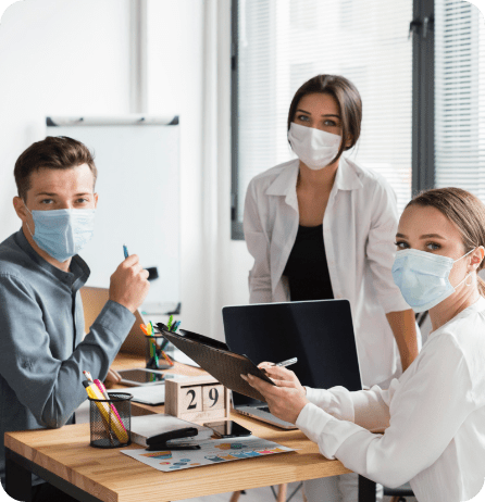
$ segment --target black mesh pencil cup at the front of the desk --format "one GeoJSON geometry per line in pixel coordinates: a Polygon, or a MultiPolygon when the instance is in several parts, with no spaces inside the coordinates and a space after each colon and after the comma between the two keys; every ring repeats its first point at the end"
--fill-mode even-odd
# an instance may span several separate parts
{"type": "Polygon", "coordinates": [[[90,445],[127,447],[132,432],[132,394],[110,393],[109,400],[91,399],[89,405],[90,445]]]}

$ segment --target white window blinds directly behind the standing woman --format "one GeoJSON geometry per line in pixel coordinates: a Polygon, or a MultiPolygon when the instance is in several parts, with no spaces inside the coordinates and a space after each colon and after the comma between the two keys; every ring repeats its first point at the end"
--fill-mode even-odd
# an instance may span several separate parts
{"type": "Polygon", "coordinates": [[[286,120],[295,91],[319,73],[359,89],[362,135],[349,154],[411,197],[412,0],[239,0],[237,219],[249,180],[295,158],[286,120]]]}

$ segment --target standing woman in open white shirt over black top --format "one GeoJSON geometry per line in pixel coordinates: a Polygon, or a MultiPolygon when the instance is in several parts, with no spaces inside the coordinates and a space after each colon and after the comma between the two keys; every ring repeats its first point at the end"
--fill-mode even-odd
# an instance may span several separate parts
{"type": "MultiPolygon", "coordinates": [[[[348,299],[362,384],[385,388],[419,349],[413,311],[390,273],[396,197],[382,176],[343,156],[359,139],[361,118],[360,95],[341,76],[318,75],[296,92],[288,140],[298,159],[256,176],[246,196],[249,300],[348,299]]],[[[306,494],[353,502],[357,479],[307,481],[306,494]]]]}

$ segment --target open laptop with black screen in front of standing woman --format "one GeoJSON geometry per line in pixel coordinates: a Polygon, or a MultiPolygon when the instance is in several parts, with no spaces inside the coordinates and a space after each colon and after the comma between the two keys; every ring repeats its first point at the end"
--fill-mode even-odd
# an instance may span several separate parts
{"type": "MultiPolygon", "coordinates": [[[[298,357],[288,369],[303,386],[362,389],[348,300],[232,305],[223,308],[222,316],[227,346],[256,364],[298,357]]],[[[233,404],[242,415],[295,428],[261,401],[233,392],[233,404]]]]}

